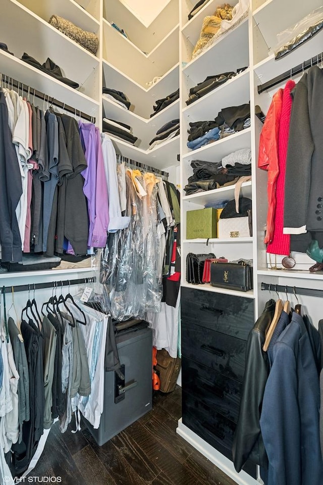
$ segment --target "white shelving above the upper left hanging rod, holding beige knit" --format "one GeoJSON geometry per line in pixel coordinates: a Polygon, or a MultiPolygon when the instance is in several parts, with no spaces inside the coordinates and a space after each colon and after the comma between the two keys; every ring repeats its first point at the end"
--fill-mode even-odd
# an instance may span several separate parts
{"type": "Polygon", "coordinates": [[[62,103],[73,105],[77,110],[97,117],[100,105],[100,60],[49,25],[49,12],[66,15],[72,19],[76,16],[75,22],[80,22],[84,28],[94,29],[98,34],[99,23],[73,0],[58,2],[57,5],[52,5],[52,10],[50,6],[47,7],[48,4],[45,8],[41,2],[24,0],[21,3],[16,0],[4,0],[0,29],[9,51],[15,56],[1,51],[0,70],[3,74],[21,80],[24,84],[47,93],[62,103]],[[13,25],[19,25],[18,31],[13,25]],[[66,77],[79,83],[79,90],[22,61],[20,58],[24,52],[40,63],[47,57],[52,59],[63,69],[66,77]]]}

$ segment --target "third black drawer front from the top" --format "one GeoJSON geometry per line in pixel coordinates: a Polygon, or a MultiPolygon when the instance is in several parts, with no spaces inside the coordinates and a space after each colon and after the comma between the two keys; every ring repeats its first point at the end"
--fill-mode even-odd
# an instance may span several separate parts
{"type": "Polygon", "coordinates": [[[184,357],[182,385],[190,396],[203,401],[233,422],[238,421],[242,384],[237,380],[184,357]]]}

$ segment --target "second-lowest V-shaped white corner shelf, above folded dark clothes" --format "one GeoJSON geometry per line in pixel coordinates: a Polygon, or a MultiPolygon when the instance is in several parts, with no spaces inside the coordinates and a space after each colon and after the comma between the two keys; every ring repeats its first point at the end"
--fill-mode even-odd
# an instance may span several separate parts
{"type": "Polygon", "coordinates": [[[132,127],[132,132],[140,141],[140,146],[148,148],[149,141],[156,135],[156,131],[170,120],[179,118],[179,100],[160,111],[152,118],[142,118],[132,111],[125,110],[117,103],[106,98],[103,94],[103,108],[105,118],[121,121],[132,127]]]}

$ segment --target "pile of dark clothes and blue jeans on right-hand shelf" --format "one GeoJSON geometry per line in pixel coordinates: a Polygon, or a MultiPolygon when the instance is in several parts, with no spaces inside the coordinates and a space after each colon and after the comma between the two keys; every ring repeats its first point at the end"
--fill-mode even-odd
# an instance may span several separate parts
{"type": "Polygon", "coordinates": [[[187,147],[197,150],[208,143],[248,128],[250,124],[249,103],[225,108],[214,120],[189,123],[187,147]]]}

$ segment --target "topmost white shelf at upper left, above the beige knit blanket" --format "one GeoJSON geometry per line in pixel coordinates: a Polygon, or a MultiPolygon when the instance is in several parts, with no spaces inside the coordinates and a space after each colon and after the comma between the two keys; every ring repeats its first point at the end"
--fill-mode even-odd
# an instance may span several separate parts
{"type": "Polygon", "coordinates": [[[74,0],[20,0],[20,3],[45,22],[48,22],[52,15],[59,15],[83,30],[95,33],[99,31],[100,22],[74,0]]]}

